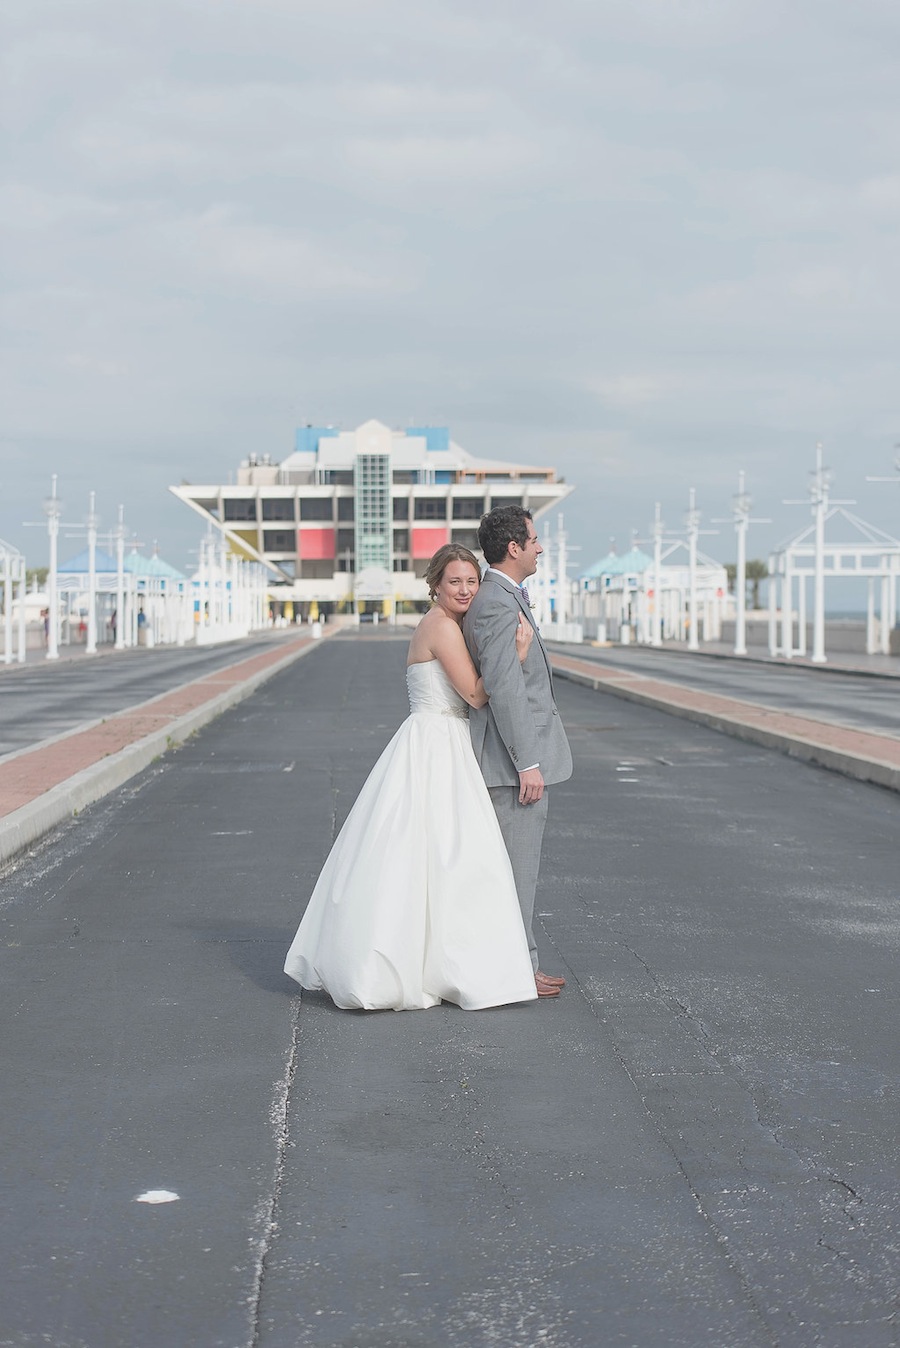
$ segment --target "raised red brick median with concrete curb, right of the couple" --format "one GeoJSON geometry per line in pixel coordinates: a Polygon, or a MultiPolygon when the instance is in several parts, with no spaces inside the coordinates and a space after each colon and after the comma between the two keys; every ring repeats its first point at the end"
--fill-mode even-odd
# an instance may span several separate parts
{"type": "Polygon", "coordinates": [[[768,748],[779,748],[862,782],[900,791],[900,740],[891,735],[795,716],[719,693],[701,693],[682,683],[645,678],[596,661],[552,654],[554,671],[633,702],[701,721],[713,729],[768,748]]]}

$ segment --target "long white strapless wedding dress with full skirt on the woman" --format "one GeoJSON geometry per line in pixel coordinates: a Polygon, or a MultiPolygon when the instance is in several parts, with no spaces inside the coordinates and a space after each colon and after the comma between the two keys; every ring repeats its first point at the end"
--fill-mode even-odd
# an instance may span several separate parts
{"type": "Polygon", "coordinates": [[[340,1007],[466,1011],[536,996],[509,857],[437,661],[407,670],[410,716],[360,791],[284,972],[340,1007]]]}

